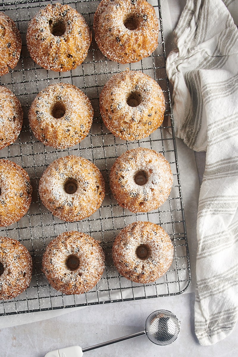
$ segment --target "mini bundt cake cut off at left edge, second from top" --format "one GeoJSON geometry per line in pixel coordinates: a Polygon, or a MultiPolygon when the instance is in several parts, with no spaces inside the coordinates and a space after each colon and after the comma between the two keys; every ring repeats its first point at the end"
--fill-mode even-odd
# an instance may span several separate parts
{"type": "Polygon", "coordinates": [[[20,134],[23,111],[17,97],[0,86],[0,149],[13,144],[20,134]]]}

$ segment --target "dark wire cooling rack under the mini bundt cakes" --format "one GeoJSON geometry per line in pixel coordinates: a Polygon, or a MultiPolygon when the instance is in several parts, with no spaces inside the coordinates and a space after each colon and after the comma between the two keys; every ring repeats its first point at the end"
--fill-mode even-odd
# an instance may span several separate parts
{"type": "MultiPolygon", "coordinates": [[[[152,56],[136,64],[121,65],[109,61],[98,50],[94,38],[88,56],[82,65],[69,72],[53,72],[37,66],[30,58],[26,46],[29,20],[49,3],[56,1],[1,1],[0,11],[10,16],[22,36],[19,63],[9,74],[0,77],[0,84],[8,87],[20,100],[24,111],[22,131],[17,141],[2,149],[0,157],[10,159],[28,172],[33,187],[29,212],[7,228],[0,228],[0,235],[19,240],[30,251],[33,276],[30,286],[17,298],[0,301],[0,316],[23,312],[52,310],[64,307],[85,306],[115,301],[127,301],[184,292],[191,281],[186,226],[184,221],[181,183],[179,178],[176,143],[173,130],[169,83],[166,76],[161,7],[158,0],[149,0],[155,7],[160,24],[158,48],[152,56]],[[102,123],[98,96],[103,85],[113,74],[127,67],[142,70],[157,80],[166,99],[163,125],[150,137],[126,142],[115,138],[102,123]],[[88,136],[77,146],[57,150],[44,146],[32,134],[27,112],[37,93],[50,84],[65,82],[79,87],[90,98],[94,119],[88,136]],[[172,123],[172,124],[168,124],[172,123]],[[169,134],[172,132],[172,135],[169,134]],[[113,162],[122,152],[134,147],[147,147],[161,152],[171,165],[173,187],[168,200],[157,211],[133,214],[117,205],[108,187],[108,174],[113,162]],[[106,182],[106,197],[101,208],[89,218],[68,223],[52,216],[39,200],[39,178],[53,160],[66,155],[79,155],[91,160],[101,170],[106,182]],[[121,277],[113,266],[111,247],[120,230],[131,222],[146,220],[161,225],[171,237],[174,259],[169,271],[156,282],[146,285],[133,283],[121,277]],[[101,280],[90,292],[82,295],[63,295],[54,290],[41,272],[41,259],[47,244],[64,231],[78,230],[100,240],[106,255],[106,269],[101,280]]],[[[94,12],[99,1],[60,1],[79,11],[92,29],[94,12]]]]}

